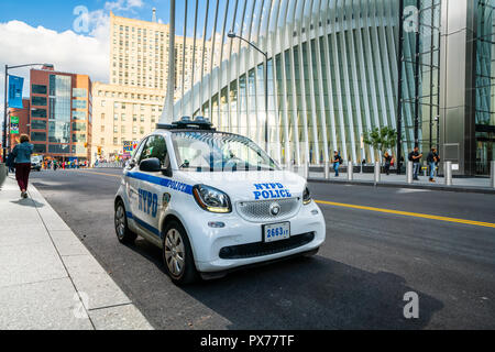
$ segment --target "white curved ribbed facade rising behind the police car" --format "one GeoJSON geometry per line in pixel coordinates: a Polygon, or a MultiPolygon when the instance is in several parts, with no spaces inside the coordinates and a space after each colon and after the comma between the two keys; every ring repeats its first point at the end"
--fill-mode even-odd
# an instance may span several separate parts
{"type": "MultiPolygon", "coordinates": [[[[398,1],[210,0],[207,6],[205,20],[212,18],[224,38],[208,51],[220,52],[220,65],[211,75],[197,73],[174,117],[202,114],[219,130],[265,145],[263,55],[227,38],[233,30],[268,53],[268,152],[275,160],[321,164],[339,151],[344,160],[375,161],[361,140],[375,127],[396,128],[398,1]]],[[[410,50],[406,38],[405,53],[410,50]]],[[[404,74],[414,76],[407,68],[404,74]]],[[[414,95],[414,85],[404,82],[404,97],[414,95]]],[[[404,150],[414,144],[413,119],[405,108],[404,150]]]]}

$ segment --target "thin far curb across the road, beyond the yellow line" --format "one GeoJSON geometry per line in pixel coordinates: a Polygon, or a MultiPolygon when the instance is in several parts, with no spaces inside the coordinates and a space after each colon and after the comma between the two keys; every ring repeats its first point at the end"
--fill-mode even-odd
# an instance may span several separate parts
{"type": "Polygon", "coordinates": [[[324,178],[308,178],[309,183],[317,184],[339,184],[339,185],[353,185],[353,186],[372,186],[372,187],[389,187],[389,188],[414,188],[414,189],[429,189],[429,190],[442,190],[454,193],[472,193],[472,194],[490,194],[495,195],[495,189],[480,188],[480,187],[455,187],[455,186],[442,186],[442,185],[409,185],[399,183],[377,183],[370,180],[338,180],[338,179],[324,179],[324,178]]]}

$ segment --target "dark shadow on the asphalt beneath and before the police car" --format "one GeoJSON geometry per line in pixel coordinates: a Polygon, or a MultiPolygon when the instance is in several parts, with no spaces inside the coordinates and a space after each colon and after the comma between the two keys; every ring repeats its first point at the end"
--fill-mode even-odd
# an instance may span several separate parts
{"type": "MultiPolygon", "coordinates": [[[[129,248],[166,275],[158,249],[141,239],[129,248]]],[[[229,320],[229,329],[422,329],[443,308],[402,276],[318,255],[241,270],[182,289],[229,320]],[[419,296],[418,319],[404,318],[408,292],[419,296]]]]}

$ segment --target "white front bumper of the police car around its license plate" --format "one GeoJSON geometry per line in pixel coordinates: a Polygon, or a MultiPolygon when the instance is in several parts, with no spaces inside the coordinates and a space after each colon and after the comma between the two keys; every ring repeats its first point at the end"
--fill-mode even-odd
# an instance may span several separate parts
{"type": "Polygon", "coordinates": [[[273,221],[289,221],[290,238],[270,243],[263,242],[264,222],[250,222],[234,212],[208,213],[191,220],[187,219],[186,229],[193,242],[196,267],[202,273],[228,272],[311,252],[326,240],[324,219],[314,201],[301,206],[293,218],[273,221]],[[211,228],[209,222],[222,222],[224,227],[211,228]]]}

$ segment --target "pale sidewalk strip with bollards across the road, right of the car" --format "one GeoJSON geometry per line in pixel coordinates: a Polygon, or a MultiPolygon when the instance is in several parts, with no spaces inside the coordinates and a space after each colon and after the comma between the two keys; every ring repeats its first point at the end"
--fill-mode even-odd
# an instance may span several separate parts
{"type": "MultiPolygon", "coordinates": [[[[364,186],[375,186],[374,174],[361,174],[353,173],[353,180],[348,182],[346,173],[339,173],[339,177],[336,177],[333,170],[330,170],[330,178],[326,179],[323,173],[309,172],[309,182],[319,183],[338,183],[338,184],[352,184],[352,185],[364,185],[364,186]]],[[[490,178],[483,177],[454,177],[452,178],[452,186],[447,186],[443,177],[436,177],[435,183],[430,183],[428,176],[419,176],[419,180],[413,182],[413,184],[407,183],[406,175],[380,175],[380,183],[376,184],[378,187],[402,187],[402,188],[422,188],[422,189],[433,189],[433,190],[450,190],[450,191],[468,191],[468,193],[484,193],[484,194],[495,194],[495,188],[490,187],[490,178]]]]}

